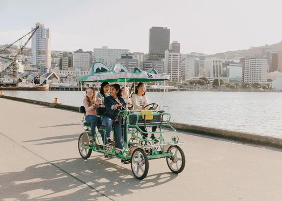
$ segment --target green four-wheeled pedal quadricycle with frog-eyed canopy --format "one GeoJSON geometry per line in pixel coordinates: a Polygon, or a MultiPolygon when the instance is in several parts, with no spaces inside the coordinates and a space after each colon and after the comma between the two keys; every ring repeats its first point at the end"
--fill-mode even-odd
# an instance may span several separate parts
{"type": "MultiPolygon", "coordinates": [[[[134,68],[128,72],[120,64],[116,64],[109,69],[103,63],[95,62],[89,75],[80,77],[79,81],[122,82],[126,85],[126,82],[164,81],[168,79],[169,75],[158,74],[154,69],[142,71],[140,68],[134,68]]],[[[185,155],[179,145],[185,144],[185,142],[180,142],[178,136],[172,136],[169,142],[164,139],[165,133],[175,132],[175,129],[170,125],[170,114],[164,110],[154,110],[158,108],[156,103],[145,106],[146,111],[129,110],[130,104],[127,104],[127,106],[118,112],[118,116],[122,117],[123,122],[123,149],[116,148],[114,143],[104,145],[102,138],[97,135],[95,140],[90,140],[91,125],[85,122],[85,109],[83,106],[80,107],[80,112],[84,113],[81,124],[85,130],[78,139],[80,156],[88,158],[92,151],[95,151],[105,156],[119,158],[122,163],[131,164],[132,173],[137,179],[144,179],[147,176],[149,160],[157,158],[165,158],[168,168],[173,173],[181,173],[185,167],[185,155]],[[147,132],[152,126],[157,126],[158,129],[155,132],[147,132]],[[148,139],[144,137],[148,133],[154,133],[156,138],[148,139]]],[[[100,129],[105,130],[105,127],[102,126],[100,129]]],[[[112,133],[114,135],[114,132],[112,133]]]]}

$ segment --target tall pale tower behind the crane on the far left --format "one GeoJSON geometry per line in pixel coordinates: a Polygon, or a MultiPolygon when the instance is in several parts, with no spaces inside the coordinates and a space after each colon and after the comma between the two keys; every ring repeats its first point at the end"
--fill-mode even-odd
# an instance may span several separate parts
{"type": "Polygon", "coordinates": [[[39,22],[36,23],[37,26],[39,28],[31,39],[32,62],[33,65],[49,71],[51,67],[50,30],[39,22]]]}

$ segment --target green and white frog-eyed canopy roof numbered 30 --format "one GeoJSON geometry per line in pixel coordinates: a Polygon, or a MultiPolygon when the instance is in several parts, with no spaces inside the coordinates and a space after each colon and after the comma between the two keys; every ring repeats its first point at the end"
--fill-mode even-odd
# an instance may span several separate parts
{"type": "Polygon", "coordinates": [[[121,64],[115,64],[111,69],[101,62],[95,62],[89,74],[78,77],[79,82],[151,82],[168,80],[168,74],[158,74],[155,69],[143,71],[135,67],[128,71],[121,64]]]}

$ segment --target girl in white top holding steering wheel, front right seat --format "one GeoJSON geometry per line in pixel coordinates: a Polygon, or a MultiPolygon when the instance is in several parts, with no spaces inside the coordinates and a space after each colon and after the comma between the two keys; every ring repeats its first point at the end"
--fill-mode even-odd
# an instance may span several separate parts
{"type": "MultiPolygon", "coordinates": [[[[134,107],[134,110],[145,110],[145,106],[149,104],[149,101],[145,95],[146,93],[146,87],[145,84],[140,82],[138,83],[135,93],[131,96],[131,101],[134,107]]],[[[154,108],[156,110],[156,108],[154,108]]],[[[145,127],[140,127],[140,129],[144,132],[147,132],[145,127]]],[[[157,130],[157,126],[152,127],[152,132],[155,132],[157,130]]],[[[143,134],[145,137],[148,136],[148,134],[143,134]]],[[[154,134],[151,135],[151,139],[154,140],[156,137],[154,134]]],[[[159,142],[157,139],[154,140],[154,142],[159,142]]]]}

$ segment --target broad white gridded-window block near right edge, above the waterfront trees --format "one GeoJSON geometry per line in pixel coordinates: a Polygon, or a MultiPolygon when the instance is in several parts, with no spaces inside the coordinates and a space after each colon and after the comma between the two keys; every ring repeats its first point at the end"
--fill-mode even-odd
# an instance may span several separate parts
{"type": "Polygon", "coordinates": [[[268,63],[266,58],[247,58],[244,67],[245,83],[267,83],[268,63]]]}

